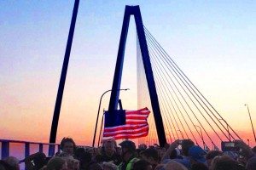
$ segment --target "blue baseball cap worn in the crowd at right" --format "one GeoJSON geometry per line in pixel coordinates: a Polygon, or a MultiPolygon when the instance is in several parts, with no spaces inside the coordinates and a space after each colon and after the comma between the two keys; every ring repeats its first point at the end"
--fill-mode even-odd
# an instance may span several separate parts
{"type": "Polygon", "coordinates": [[[205,150],[201,149],[200,146],[191,146],[189,148],[189,157],[195,161],[206,163],[207,160],[205,158],[206,152],[205,150]]]}

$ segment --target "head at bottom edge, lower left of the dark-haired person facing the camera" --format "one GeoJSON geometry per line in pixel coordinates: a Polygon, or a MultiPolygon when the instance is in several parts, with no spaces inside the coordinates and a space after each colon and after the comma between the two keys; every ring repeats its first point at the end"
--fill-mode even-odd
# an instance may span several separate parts
{"type": "Polygon", "coordinates": [[[51,158],[46,166],[47,170],[67,170],[67,162],[61,157],[51,158]]]}

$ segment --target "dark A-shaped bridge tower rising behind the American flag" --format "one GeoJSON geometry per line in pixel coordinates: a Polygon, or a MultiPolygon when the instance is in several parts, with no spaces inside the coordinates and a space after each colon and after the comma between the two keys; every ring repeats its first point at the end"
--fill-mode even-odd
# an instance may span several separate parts
{"type": "Polygon", "coordinates": [[[139,40],[141,53],[143,56],[143,65],[145,69],[145,74],[148,82],[148,91],[151,100],[152,109],[154,112],[155,127],[157,130],[157,135],[159,139],[160,146],[163,147],[166,144],[166,134],[163,126],[162,116],[160,113],[159,100],[154,83],[154,75],[148,54],[148,45],[145,37],[145,32],[143,28],[143,19],[140,12],[139,6],[126,6],[125,16],[123,20],[123,26],[121,31],[121,37],[119,41],[119,51],[113,76],[113,86],[110,96],[110,101],[108,105],[108,111],[113,111],[117,109],[119,101],[119,88],[121,84],[124,56],[125,56],[125,43],[127,39],[127,32],[129,28],[130,16],[134,15],[137,37],[139,40]]]}

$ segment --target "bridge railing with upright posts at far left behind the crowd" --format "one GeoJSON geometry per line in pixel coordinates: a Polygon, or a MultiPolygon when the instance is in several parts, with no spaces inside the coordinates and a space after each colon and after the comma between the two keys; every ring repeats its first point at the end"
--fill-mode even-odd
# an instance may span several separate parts
{"type": "MultiPolygon", "coordinates": [[[[1,159],[4,159],[8,156],[10,156],[10,144],[24,144],[24,159],[27,156],[31,155],[31,144],[38,144],[38,152],[44,152],[44,146],[49,147],[48,154],[45,153],[46,156],[54,156],[55,155],[55,147],[57,146],[57,150],[60,151],[60,144],[50,144],[50,143],[41,143],[41,142],[29,142],[29,141],[23,141],[23,140],[9,140],[9,139],[0,139],[1,143],[1,159]]],[[[35,150],[33,150],[34,152],[35,150]]],[[[19,153],[21,154],[21,153],[19,153]]],[[[23,156],[22,156],[23,157],[23,156]]],[[[24,159],[20,161],[24,161],[24,159]]]]}

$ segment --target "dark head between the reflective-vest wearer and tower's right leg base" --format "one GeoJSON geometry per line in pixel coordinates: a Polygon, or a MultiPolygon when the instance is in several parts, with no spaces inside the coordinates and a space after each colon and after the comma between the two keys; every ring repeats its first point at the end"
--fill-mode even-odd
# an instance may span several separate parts
{"type": "Polygon", "coordinates": [[[148,161],[151,165],[155,165],[159,161],[158,151],[154,148],[148,148],[141,153],[143,160],[148,161]]]}

